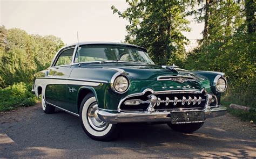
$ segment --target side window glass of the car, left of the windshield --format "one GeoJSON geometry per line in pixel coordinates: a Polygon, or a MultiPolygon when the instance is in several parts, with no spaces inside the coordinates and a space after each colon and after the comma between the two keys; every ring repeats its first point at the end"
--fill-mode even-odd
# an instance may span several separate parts
{"type": "Polygon", "coordinates": [[[61,66],[65,64],[70,64],[73,56],[75,48],[64,50],[62,53],[59,54],[58,60],[55,63],[55,66],[61,66]]]}

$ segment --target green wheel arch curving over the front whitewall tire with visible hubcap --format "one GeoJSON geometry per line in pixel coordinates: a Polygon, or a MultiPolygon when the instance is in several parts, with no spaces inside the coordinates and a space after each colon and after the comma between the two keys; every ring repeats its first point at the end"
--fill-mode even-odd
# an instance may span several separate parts
{"type": "Polygon", "coordinates": [[[80,87],[79,90],[78,90],[78,95],[77,95],[77,110],[78,110],[78,113],[79,113],[79,110],[80,110],[80,105],[81,105],[84,97],[86,95],[88,95],[88,93],[93,93],[93,95],[95,95],[96,100],[98,101],[97,93],[96,93],[94,88],[92,88],[91,86],[82,86],[82,87],[80,87]]]}

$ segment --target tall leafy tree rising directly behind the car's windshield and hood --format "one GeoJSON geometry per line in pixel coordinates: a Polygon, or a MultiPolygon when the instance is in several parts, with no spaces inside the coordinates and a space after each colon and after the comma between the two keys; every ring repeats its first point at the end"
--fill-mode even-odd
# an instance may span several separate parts
{"type": "Polygon", "coordinates": [[[189,1],[126,1],[124,12],[114,6],[113,13],[129,20],[125,42],[146,47],[157,64],[170,64],[185,59],[188,39],[182,32],[190,31],[185,19],[189,1]]]}

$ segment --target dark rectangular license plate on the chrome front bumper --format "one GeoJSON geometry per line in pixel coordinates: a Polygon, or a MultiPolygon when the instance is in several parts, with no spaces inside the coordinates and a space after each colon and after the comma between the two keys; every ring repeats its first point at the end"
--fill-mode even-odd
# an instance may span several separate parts
{"type": "Polygon", "coordinates": [[[192,122],[203,122],[205,120],[204,112],[171,112],[172,124],[184,124],[192,122]]]}

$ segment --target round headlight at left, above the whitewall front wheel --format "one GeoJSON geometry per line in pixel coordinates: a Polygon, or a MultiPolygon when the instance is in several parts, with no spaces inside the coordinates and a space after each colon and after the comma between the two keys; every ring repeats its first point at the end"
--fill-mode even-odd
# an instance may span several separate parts
{"type": "Polygon", "coordinates": [[[124,93],[129,88],[129,81],[124,76],[118,76],[116,79],[114,79],[113,82],[113,89],[114,91],[117,91],[118,93],[124,93]]]}

